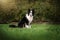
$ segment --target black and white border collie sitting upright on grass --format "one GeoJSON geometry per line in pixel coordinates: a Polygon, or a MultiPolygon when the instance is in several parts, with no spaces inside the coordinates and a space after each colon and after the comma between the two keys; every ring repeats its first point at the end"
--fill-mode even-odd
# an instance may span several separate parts
{"type": "Polygon", "coordinates": [[[31,28],[31,22],[33,21],[34,9],[28,9],[28,13],[22,18],[22,20],[18,23],[18,27],[26,27],[31,28]]]}

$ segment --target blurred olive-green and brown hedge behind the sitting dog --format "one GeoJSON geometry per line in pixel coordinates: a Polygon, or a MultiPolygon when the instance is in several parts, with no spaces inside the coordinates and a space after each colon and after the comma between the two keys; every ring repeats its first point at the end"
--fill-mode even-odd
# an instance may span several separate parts
{"type": "MultiPolygon", "coordinates": [[[[60,22],[59,0],[15,0],[14,7],[3,8],[0,6],[0,23],[19,21],[28,8],[35,9],[34,21],[60,22]]],[[[14,3],[14,2],[13,2],[14,3]]],[[[7,3],[8,4],[8,3],[7,3]]],[[[2,4],[0,4],[2,5],[2,4]]],[[[12,4],[11,4],[12,5],[12,4]]]]}

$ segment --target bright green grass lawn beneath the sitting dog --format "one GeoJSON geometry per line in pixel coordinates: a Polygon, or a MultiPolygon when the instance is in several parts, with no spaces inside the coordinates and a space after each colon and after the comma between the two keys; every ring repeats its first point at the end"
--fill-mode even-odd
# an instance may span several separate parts
{"type": "Polygon", "coordinates": [[[60,40],[60,25],[32,24],[32,28],[10,28],[0,24],[0,40],[60,40]]]}

